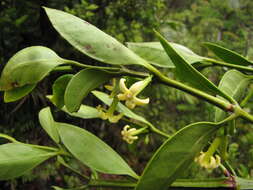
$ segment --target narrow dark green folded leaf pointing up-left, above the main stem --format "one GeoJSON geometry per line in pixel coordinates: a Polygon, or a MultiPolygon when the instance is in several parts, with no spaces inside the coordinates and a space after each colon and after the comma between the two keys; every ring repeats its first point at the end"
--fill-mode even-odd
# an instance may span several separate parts
{"type": "Polygon", "coordinates": [[[230,99],[228,95],[219,90],[211,81],[209,81],[204,75],[196,70],[190,63],[188,63],[171,44],[162,37],[159,33],[156,33],[166,53],[170,56],[171,60],[176,66],[175,72],[177,77],[190,84],[194,88],[198,88],[204,92],[208,92],[214,95],[223,96],[226,99],[230,99]]]}

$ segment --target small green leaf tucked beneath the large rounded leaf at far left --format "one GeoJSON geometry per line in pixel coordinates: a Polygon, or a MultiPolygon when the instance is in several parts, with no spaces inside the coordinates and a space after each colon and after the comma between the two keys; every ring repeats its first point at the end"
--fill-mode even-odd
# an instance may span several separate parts
{"type": "Polygon", "coordinates": [[[13,88],[11,90],[7,90],[4,92],[4,102],[14,102],[17,101],[27,94],[29,94],[34,88],[36,84],[26,84],[22,87],[13,88]]]}

